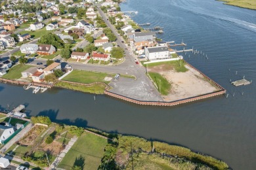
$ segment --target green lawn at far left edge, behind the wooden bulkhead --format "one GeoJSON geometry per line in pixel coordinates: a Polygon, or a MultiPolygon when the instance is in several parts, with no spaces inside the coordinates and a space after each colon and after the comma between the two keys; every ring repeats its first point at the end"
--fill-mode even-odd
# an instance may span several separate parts
{"type": "Polygon", "coordinates": [[[25,71],[26,69],[29,69],[30,67],[33,67],[32,65],[14,65],[11,67],[11,69],[9,69],[9,71],[7,72],[6,75],[3,75],[2,78],[7,78],[7,79],[18,79],[20,78],[22,75],[22,71],[25,71]]]}

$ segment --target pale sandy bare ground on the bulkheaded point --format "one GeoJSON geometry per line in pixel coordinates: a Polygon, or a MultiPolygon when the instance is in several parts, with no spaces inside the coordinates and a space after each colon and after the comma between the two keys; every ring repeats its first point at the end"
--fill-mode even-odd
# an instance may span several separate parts
{"type": "Polygon", "coordinates": [[[168,95],[163,95],[164,101],[176,101],[180,99],[186,99],[189,97],[195,97],[197,95],[203,95],[219,90],[216,86],[213,86],[208,80],[206,80],[198,71],[188,67],[185,73],[176,72],[174,69],[163,67],[161,65],[158,68],[150,68],[150,71],[160,73],[169,82],[171,82],[171,92],[168,95]],[[156,71],[157,70],[157,71],[156,71]]]}

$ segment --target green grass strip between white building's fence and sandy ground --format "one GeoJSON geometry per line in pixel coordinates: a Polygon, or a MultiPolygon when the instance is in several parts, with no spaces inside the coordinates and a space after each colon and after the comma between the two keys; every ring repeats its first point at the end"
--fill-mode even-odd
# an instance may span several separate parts
{"type": "Polygon", "coordinates": [[[188,69],[185,67],[186,63],[184,63],[183,60],[176,60],[176,61],[164,61],[164,62],[158,62],[158,63],[149,63],[147,64],[148,68],[163,65],[165,69],[175,69],[177,72],[186,72],[188,69]]]}

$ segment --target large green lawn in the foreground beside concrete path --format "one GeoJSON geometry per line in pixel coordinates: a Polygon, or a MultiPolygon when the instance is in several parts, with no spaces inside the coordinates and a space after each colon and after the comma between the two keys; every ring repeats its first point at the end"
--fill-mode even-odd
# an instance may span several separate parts
{"type": "Polygon", "coordinates": [[[58,167],[72,169],[74,165],[78,165],[83,167],[83,169],[98,169],[106,144],[106,139],[91,133],[85,133],[85,135],[77,139],[63,160],[58,164],[58,167]]]}

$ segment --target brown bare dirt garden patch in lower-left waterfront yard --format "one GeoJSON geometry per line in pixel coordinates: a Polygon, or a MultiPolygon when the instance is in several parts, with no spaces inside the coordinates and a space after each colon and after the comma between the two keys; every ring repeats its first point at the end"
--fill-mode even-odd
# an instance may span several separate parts
{"type": "Polygon", "coordinates": [[[35,142],[35,139],[46,129],[45,126],[34,126],[22,139],[19,143],[22,145],[32,145],[35,142]]]}

